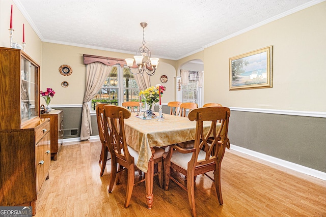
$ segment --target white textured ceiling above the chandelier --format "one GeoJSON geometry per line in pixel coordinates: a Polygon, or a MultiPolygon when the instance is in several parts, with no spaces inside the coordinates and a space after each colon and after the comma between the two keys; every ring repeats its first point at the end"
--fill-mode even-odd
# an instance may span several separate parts
{"type": "Polygon", "coordinates": [[[324,0],[14,0],[44,42],[180,59],[324,0]]]}

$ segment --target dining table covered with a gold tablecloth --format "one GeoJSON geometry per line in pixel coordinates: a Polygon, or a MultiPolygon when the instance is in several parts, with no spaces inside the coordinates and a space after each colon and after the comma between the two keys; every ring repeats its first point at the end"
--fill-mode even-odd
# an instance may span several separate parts
{"type": "MultiPolygon", "coordinates": [[[[196,121],[187,117],[164,114],[164,118],[144,119],[140,113],[131,113],[124,120],[127,144],[138,151],[136,166],[145,172],[146,203],[148,209],[153,203],[154,147],[165,147],[177,143],[195,140],[196,121]]],[[[208,131],[210,122],[204,123],[208,131]]]]}

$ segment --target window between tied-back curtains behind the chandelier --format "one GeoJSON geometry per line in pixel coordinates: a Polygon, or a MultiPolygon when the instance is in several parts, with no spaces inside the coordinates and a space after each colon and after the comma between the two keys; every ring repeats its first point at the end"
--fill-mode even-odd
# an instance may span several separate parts
{"type": "Polygon", "coordinates": [[[126,101],[139,101],[140,89],[129,68],[116,65],[112,68],[102,87],[91,101],[94,113],[98,103],[121,106],[126,101]]]}

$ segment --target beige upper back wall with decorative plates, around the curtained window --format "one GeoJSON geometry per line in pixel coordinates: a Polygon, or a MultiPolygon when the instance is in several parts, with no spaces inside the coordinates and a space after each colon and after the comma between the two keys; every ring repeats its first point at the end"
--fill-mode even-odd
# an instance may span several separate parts
{"type": "MultiPolygon", "coordinates": [[[[86,66],[84,65],[83,54],[106,56],[114,58],[130,58],[132,55],[104,50],[96,50],[83,47],[75,47],[53,43],[43,43],[43,78],[41,88],[51,87],[56,91],[56,96],[51,100],[53,105],[81,105],[83,104],[86,85],[86,66]],[[72,68],[70,76],[63,76],[59,73],[61,65],[69,65],[72,68]],[[61,83],[68,81],[68,87],[62,87],[61,83]]],[[[162,103],[174,100],[174,75],[176,61],[159,59],[158,68],[150,77],[151,85],[160,83],[160,76],[167,75],[168,82],[162,103]]]]}

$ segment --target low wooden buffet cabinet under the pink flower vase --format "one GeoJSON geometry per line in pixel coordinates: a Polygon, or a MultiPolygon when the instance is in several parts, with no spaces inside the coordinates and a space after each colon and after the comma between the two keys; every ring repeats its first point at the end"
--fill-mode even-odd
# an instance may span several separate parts
{"type": "Polygon", "coordinates": [[[52,110],[41,114],[41,118],[50,118],[51,127],[51,157],[57,161],[58,152],[63,142],[63,110],[52,110]]]}

